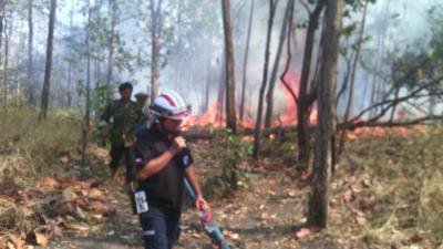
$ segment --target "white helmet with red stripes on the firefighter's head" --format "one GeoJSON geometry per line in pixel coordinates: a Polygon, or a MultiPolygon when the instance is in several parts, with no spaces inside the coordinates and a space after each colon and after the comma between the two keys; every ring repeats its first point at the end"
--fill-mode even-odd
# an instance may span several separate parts
{"type": "Polygon", "coordinates": [[[155,97],[151,111],[154,115],[178,121],[189,115],[189,108],[182,96],[171,90],[164,91],[155,97]]]}

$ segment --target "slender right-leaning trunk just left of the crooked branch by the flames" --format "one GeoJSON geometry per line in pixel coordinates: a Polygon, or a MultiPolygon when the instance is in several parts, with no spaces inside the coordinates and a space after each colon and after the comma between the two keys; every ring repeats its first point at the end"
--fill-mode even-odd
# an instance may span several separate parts
{"type": "Polygon", "coordinates": [[[269,128],[271,126],[271,122],[272,122],[274,89],[276,86],[277,73],[278,73],[278,70],[280,69],[280,59],[281,59],[281,54],[284,52],[285,40],[286,40],[286,34],[287,34],[286,30],[288,29],[288,18],[289,18],[289,13],[292,11],[292,8],[293,8],[293,0],[288,0],[286,10],[285,10],[284,23],[281,25],[280,38],[278,40],[277,54],[276,54],[276,59],[274,61],[272,72],[271,72],[270,79],[269,79],[268,93],[266,94],[266,103],[267,103],[266,114],[265,114],[265,127],[266,128],[269,128]]]}

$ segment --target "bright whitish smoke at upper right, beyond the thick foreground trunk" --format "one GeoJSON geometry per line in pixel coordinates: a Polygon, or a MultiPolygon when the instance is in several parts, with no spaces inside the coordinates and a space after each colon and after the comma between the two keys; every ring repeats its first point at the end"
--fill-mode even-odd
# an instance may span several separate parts
{"type": "MultiPolygon", "coordinates": [[[[389,54],[398,55],[414,41],[429,34],[430,27],[426,18],[433,3],[432,0],[379,0],[374,4],[369,4],[364,32],[367,40],[362,45],[361,62],[356,75],[353,114],[371,105],[373,83],[382,84],[382,80],[373,73],[391,73],[389,54]],[[365,64],[365,68],[362,64],[365,64]]],[[[350,19],[344,19],[344,25],[356,21],[361,21],[361,12],[353,13],[350,19]]],[[[344,69],[346,63],[341,60],[339,89],[346,73],[344,69]]],[[[347,96],[348,93],[344,95],[347,96]]],[[[347,97],[343,97],[340,101],[339,114],[343,113],[346,103],[347,97]]]]}

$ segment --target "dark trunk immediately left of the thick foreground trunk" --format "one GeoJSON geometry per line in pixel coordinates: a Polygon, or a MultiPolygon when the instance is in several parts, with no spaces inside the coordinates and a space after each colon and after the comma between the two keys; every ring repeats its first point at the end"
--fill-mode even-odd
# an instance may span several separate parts
{"type": "Polygon", "coordinates": [[[298,155],[299,162],[297,168],[299,170],[307,170],[311,159],[312,145],[311,133],[309,132],[309,117],[311,114],[311,105],[313,103],[313,91],[316,90],[313,87],[309,87],[309,80],[311,72],[312,50],[315,44],[313,40],[323,6],[324,2],[319,1],[316,6],[316,9],[309,13],[308,30],[305,41],[303,63],[301,69],[300,86],[298,90],[299,102],[297,105],[297,143],[300,151],[298,155]]]}

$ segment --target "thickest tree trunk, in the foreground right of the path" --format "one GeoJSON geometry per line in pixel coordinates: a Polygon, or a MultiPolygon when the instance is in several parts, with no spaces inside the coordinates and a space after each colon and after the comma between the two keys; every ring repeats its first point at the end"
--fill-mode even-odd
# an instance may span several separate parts
{"type": "Polygon", "coordinates": [[[321,70],[318,82],[318,122],[312,190],[309,196],[308,225],[328,224],[329,180],[332,167],[332,141],[336,131],[336,89],[342,0],[326,3],[321,70]]]}

